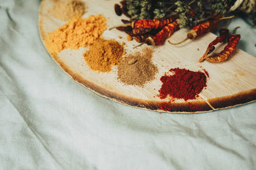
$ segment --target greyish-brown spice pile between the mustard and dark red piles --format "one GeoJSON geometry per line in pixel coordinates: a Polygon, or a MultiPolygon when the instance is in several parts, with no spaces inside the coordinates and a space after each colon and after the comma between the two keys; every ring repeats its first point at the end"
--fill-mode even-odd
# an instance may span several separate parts
{"type": "Polygon", "coordinates": [[[144,48],[118,62],[118,80],[126,85],[143,87],[147,81],[154,80],[157,67],[152,63],[153,50],[144,48]]]}

